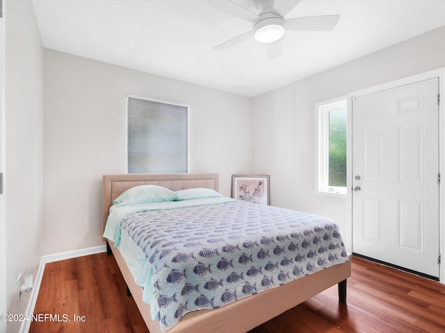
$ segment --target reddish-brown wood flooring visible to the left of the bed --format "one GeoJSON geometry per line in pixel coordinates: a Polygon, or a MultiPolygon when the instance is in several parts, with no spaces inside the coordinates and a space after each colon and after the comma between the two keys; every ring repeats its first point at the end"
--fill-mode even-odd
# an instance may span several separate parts
{"type": "Polygon", "coordinates": [[[33,321],[29,332],[148,333],[116,267],[104,253],[47,264],[34,314],[65,314],[69,321],[33,321]]]}

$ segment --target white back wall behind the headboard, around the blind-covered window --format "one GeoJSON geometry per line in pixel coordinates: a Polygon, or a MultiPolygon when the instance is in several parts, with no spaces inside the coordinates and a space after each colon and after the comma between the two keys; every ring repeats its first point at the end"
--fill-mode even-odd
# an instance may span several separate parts
{"type": "Polygon", "coordinates": [[[126,172],[127,96],[188,106],[189,172],[233,173],[252,166],[247,97],[170,78],[44,51],[44,254],[104,244],[104,173],[126,172]]]}

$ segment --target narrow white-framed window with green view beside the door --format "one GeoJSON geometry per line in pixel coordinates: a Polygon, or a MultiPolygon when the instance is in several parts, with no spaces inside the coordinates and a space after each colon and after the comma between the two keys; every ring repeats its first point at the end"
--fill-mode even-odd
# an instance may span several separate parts
{"type": "Polygon", "coordinates": [[[318,103],[320,194],[346,194],[346,99],[318,103]]]}

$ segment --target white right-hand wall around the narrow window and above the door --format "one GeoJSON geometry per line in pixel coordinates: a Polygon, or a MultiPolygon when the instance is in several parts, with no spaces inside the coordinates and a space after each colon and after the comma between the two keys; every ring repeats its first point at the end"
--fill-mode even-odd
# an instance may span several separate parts
{"type": "Polygon", "coordinates": [[[270,173],[270,202],[330,217],[345,231],[346,199],[318,196],[314,191],[314,104],[444,67],[444,40],[445,27],[441,27],[254,97],[254,165],[270,173]]]}

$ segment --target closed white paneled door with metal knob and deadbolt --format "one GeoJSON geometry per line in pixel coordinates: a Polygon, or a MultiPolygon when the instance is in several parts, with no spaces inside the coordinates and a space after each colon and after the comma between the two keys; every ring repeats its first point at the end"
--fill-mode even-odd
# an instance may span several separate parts
{"type": "Polygon", "coordinates": [[[439,277],[439,78],[353,99],[353,252],[439,277]]]}

